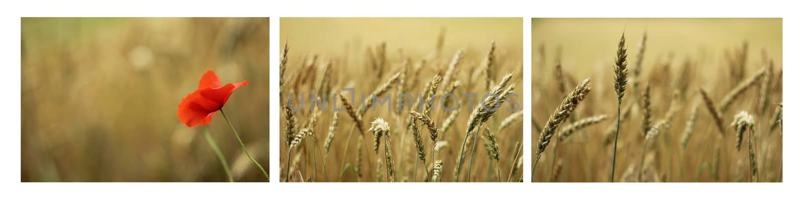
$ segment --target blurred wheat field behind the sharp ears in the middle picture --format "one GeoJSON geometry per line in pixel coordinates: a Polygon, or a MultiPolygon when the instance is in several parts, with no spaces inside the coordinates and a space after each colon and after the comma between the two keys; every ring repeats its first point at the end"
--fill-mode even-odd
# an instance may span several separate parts
{"type": "MultiPolygon", "coordinates": [[[[437,73],[445,76],[441,81],[434,100],[430,118],[439,128],[448,116],[457,116],[449,130],[439,129],[437,141],[445,146],[437,149],[434,160],[443,161],[441,182],[453,182],[457,167],[457,157],[461,153],[469,120],[470,108],[478,105],[478,99],[489,93],[486,82],[498,84],[508,72],[513,78],[507,85],[515,85],[512,100],[520,104],[522,100],[522,19],[520,18],[281,18],[280,37],[282,48],[287,45],[286,65],[281,66],[281,104],[293,94],[293,108],[300,106],[299,93],[305,97],[303,110],[292,112],[295,119],[293,129],[289,125],[289,112],[282,111],[281,126],[281,180],[290,182],[424,182],[433,180],[427,173],[433,169],[433,141],[427,129],[419,124],[421,138],[426,154],[426,165],[417,157],[413,133],[407,124],[411,116],[411,106],[404,106],[403,112],[388,111],[388,104],[396,110],[400,93],[420,95],[426,85],[434,80],[437,73]],[[485,70],[491,42],[495,41],[494,61],[490,73],[485,70]],[[459,49],[464,54],[455,70],[448,72],[449,64],[459,49]],[[326,137],[334,119],[332,94],[340,93],[342,88],[355,88],[355,100],[351,92],[344,93],[347,101],[355,109],[363,101],[360,95],[370,96],[376,88],[381,88],[392,80],[388,92],[391,102],[378,105],[376,110],[367,110],[361,118],[364,129],[371,127],[377,118],[386,120],[390,126],[390,154],[394,175],[389,176],[384,153],[384,141],[380,142],[379,153],[373,150],[372,133],[359,133],[355,120],[346,111],[339,111],[337,129],[333,132],[329,152],[325,149],[326,137]],[[450,73],[450,74],[447,74],[450,73]],[[490,76],[487,76],[490,75],[490,76]],[[451,76],[451,78],[447,78],[451,76]],[[491,77],[490,79],[487,77],[491,77]],[[459,97],[459,111],[448,112],[441,109],[441,96],[450,84],[460,81],[461,86],[452,93],[459,97]],[[315,108],[310,111],[310,94],[328,94],[326,109],[315,108]],[[463,94],[475,93],[471,103],[463,94]],[[356,102],[353,102],[356,101],[356,102]],[[318,112],[318,114],[314,114],[318,112]],[[289,151],[289,142],[309,129],[300,145],[289,151]],[[359,145],[359,137],[363,143],[359,145]],[[359,147],[360,146],[360,147],[359,147]],[[326,161],[324,161],[326,158],[326,161]],[[325,166],[326,162],[326,166],[325,166]],[[289,176],[286,174],[289,173],[289,176]],[[391,179],[393,178],[393,179],[391,179]]],[[[507,86],[506,86],[507,87],[507,86]]],[[[424,95],[423,95],[424,96],[424,95]]],[[[384,97],[380,96],[380,97],[384,97]]],[[[404,99],[403,102],[412,100],[404,99]]],[[[454,101],[453,101],[454,102],[454,101]]],[[[277,103],[279,104],[279,103],[277,103]]],[[[337,101],[338,108],[343,101],[337,101]]],[[[513,104],[503,104],[503,108],[513,108],[513,104]]],[[[422,109],[417,110],[422,112],[422,109]]],[[[485,130],[468,140],[461,166],[460,182],[516,182],[522,176],[522,112],[500,109],[495,112],[486,125],[495,134],[500,152],[500,171],[497,161],[492,160],[484,147],[485,130]],[[514,115],[513,123],[504,129],[499,125],[507,116],[514,115]],[[519,117],[517,117],[519,114],[519,117]],[[474,160],[469,173],[470,148],[474,149],[474,160]],[[519,163],[518,163],[519,161],[519,163]],[[501,177],[501,178],[499,178],[501,177]]],[[[478,128],[480,128],[478,126],[478,128]]],[[[477,130],[477,129],[475,129],[477,130]]],[[[474,136],[475,132],[472,132],[474,136]]]]}

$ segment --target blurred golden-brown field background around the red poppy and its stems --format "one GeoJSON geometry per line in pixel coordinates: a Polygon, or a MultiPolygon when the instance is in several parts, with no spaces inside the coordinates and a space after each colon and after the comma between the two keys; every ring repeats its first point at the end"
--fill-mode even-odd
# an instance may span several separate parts
{"type": "MultiPolygon", "coordinates": [[[[207,70],[248,80],[224,106],[269,157],[268,18],[22,18],[22,182],[224,182],[176,116],[207,70]]],[[[220,114],[208,124],[235,181],[265,177],[220,114]]]]}

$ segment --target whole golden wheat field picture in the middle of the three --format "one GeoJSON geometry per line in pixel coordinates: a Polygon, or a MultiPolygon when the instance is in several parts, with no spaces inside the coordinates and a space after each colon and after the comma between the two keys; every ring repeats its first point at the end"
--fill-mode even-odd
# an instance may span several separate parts
{"type": "MultiPolygon", "coordinates": [[[[297,123],[305,124],[301,119],[314,115],[309,109],[310,94],[328,94],[328,106],[320,109],[322,114],[318,116],[324,123],[310,127],[316,133],[328,132],[329,125],[335,123],[331,117],[333,98],[338,101],[338,109],[351,106],[338,111],[347,112],[341,115],[349,117],[335,119],[339,120],[338,129],[331,129],[333,137],[326,140],[329,145],[303,142],[289,155],[285,154],[287,146],[281,146],[285,152],[281,153],[282,163],[301,156],[297,164],[281,166],[281,180],[521,180],[522,120],[516,117],[521,116],[521,108],[505,109],[515,108],[515,103],[521,107],[521,98],[478,100],[486,93],[522,94],[521,87],[516,87],[522,79],[521,25],[519,18],[281,18],[280,37],[287,39],[290,50],[281,77],[285,83],[281,98],[286,102],[292,93],[293,102],[300,102],[298,95],[302,93],[306,101],[304,109],[294,112],[300,119],[297,123]],[[342,88],[355,88],[355,99],[352,100],[352,92],[342,92],[342,88]],[[332,93],[339,96],[333,97],[332,93]],[[412,98],[402,96],[402,103],[410,105],[398,109],[400,93],[411,94],[412,98]],[[478,96],[463,96],[473,93],[478,96]],[[369,98],[363,100],[361,94],[375,94],[380,99],[390,95],[391,99],[372,102],[369,98]],[[419,101],[435,104],[412,106],[419,101]],[[448,109],[441,108],[442,102],[448,109]],[[478,104],[501,107],[494,112],[478,111],[478,104]],[[457,110],[450,111],[453,108],[457,110]],[[503,124],[507,116],[515,113],[519,114],[503,124]],[[369,123],[366,119],[378,117],[387,121],[388,133],[374,134],[375,138],[364,141],[363,133],[374,130],[364,129],[369,123]],[[467,121],[475,123],[464,123],[467,121]],[[482,124],[494,133],[480,131],[482,124]],[[475,133],[480,135],[478,140],[475,133]],[[495,148],[492,157],[482,142],[490,138],[495,148]],[[461,145],[464,141],[466,145],[461,145]],[[371,151],[372,145],[375,151],[371,151]],[[329,152],[321,156],[316,149],[329,152]],[[461,172],[456,176],[459,163],[461,172]],[[285,173],[285,169],[291,171],[285,173]]],[[[294,108],[298,105],[294,104],[294,108]]],[[[282,117],[280,123],[284,126],[288,120],[282,117]]],[[[318,135],[314,137],[321,137],[318,135]]]]}

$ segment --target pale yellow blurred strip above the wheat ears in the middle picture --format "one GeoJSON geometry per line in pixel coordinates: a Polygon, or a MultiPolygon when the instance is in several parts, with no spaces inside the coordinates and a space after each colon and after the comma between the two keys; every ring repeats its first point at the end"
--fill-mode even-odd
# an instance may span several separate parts
{"type": "Polygon", "coordinates": [[[433,53],[442,32],[441,49],[449,59],[458,48],[483,55],[491,40],[496,40],[501,51],[509,51],[507,47],[521,51],[521,25],[519,18],[281,18],[279,32],[281,45],[287,42],[299,53],[289,55],[291,60],[302,52],[363,54],[365,47],[382,42],[389,54],[398,55],[404,49],[412,58],[424,57],[433,53]]]}

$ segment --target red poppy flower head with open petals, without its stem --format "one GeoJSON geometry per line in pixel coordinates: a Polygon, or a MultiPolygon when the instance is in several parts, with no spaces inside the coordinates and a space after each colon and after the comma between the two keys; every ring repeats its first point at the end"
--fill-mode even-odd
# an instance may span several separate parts
{"type": "Polygon", "coordinates": [[[182,102],[178,103],[178,120],[188,127],[209,124],[215,112],[224,107],[232,92],[244,85],[248,85],[248,80],[220,86],[220,78],[215,75],[215,71],[207,71],[201,76],[199,88],[184,96],[182,102]]]}

